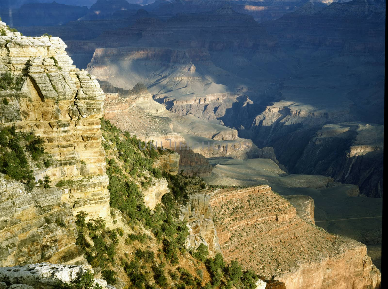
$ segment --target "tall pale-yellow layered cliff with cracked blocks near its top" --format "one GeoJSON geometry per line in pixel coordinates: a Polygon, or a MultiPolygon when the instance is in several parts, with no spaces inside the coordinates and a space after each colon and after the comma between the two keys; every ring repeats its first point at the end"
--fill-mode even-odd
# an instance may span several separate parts
{"type": "MultiPolygon", "coordinates": [[[[9,34],[9,33],[7,33],[9,34]]],[[[100,117],[105,95],[97,80],[80,71],[58,37],[0,37],[0,73],[23,76],[20,91],[3,90],[2,126],[33,131],[56,161],[36,169],[36,180],[47,175],[62,183],[62,201],[94,216],[109,214],[108,178],[101,146],[100,117]],[[71,185],[69,185],[71,184],[71,185]]]]}

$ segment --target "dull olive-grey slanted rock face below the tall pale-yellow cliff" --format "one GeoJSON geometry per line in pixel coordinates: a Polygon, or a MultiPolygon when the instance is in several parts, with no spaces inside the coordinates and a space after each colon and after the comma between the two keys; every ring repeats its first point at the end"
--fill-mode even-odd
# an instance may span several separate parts
{"type": "Polygon", "coordinates": [[[74,246],[78,234],[72,209],[61,197],[57,188],[27,192],[0,173],[0,267],[68,262],[82,255],[74,246]]]}

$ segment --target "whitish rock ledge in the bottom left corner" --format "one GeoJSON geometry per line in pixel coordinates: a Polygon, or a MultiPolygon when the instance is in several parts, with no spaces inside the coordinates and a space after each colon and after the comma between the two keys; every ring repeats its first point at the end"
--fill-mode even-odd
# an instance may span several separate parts
{"type": "MultiPolygon", "coordinates": [[[[50,289],[58,283],[76,281],[87,271],[93,273],[90,265],[63,265],[51,263],[36,263],[25,266],[0,268],[1,289],[50,289]]],[[[94,279],[94,283],[106,289],[115,289],[107,285],[105,280],[94,279]]]]}

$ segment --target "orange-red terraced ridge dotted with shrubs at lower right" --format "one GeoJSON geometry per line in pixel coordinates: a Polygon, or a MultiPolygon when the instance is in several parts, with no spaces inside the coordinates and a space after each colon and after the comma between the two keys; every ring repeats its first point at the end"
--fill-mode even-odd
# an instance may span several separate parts
{"type": "Polygon", "coordinates": [[[380,287],[381,274],[364,244],[328,234],[312,224],[311,215],[302,220],[268,185],[218,189],[210,204],[227,261],[237,258],[287,288],[380,287]]]}

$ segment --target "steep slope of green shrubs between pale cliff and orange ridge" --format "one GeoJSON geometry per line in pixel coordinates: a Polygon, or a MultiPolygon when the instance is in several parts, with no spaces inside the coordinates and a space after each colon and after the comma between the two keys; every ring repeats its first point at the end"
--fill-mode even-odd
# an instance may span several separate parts
{"type": "MultiPolygon", "coordinates": [[[[166,152],[141,151],[139,139],[109,121],[102,119],[101,130],[111,216],[118,234],[102,219],[86,222],[86,213],[80,212],[76,216],[77,244],[85,249],[88,262],[102,269],[108,283],[120,280],[131,288],[232,288],[233,284],[250,288],[249,278],[257,277],[253,272],[242,272],[237,261],[225,266],[221,254],[208,258],[204,244],[192,249],[192,255],[186,251],[188,228],[187,223],[180,222],[178,208],[187,202],[189,192],[204,189],[203,181],[152,168],[154,159],[166,152]],[[141,189],[146,182],[162,176],[168,180],[170,193],[151,211],[144,204],[141,189]],[[121,216],[116,215],[117,209],[121,216]]],[[[144,143],[141,145],[144,147],[144,143]]]]}

